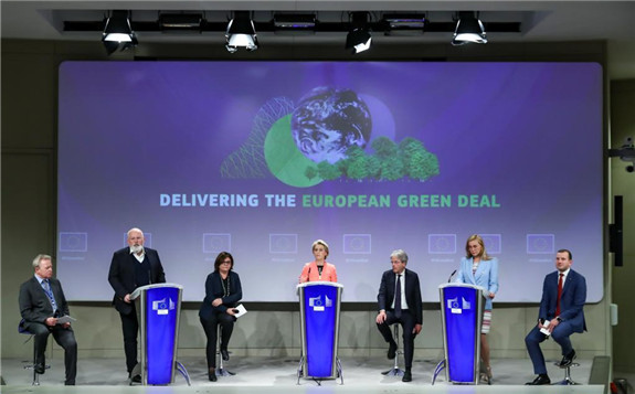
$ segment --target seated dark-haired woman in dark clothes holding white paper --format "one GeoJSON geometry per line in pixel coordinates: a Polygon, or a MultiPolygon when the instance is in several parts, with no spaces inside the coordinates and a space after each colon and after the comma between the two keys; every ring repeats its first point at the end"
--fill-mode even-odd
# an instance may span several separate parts
{"type": "Polygon", "coordinates": [[[221,326],[221,356],[230,360],[227,344],[234,329],[237,302],[243,298],[241,278],[233,271],[234,257],[227,252],[221,252],[214,262],[214,271],[205,280],[205,299],[199,310],[199,318],[205,337],[208,337],[207,358],[211,382],[216,381],[216,340],[218,327],[221,326]]]}

